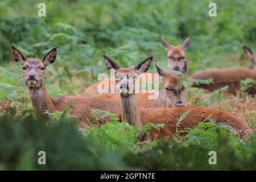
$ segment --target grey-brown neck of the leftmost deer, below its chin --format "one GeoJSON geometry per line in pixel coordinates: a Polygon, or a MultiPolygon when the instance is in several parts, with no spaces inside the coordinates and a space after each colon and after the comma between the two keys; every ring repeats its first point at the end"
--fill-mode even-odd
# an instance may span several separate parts
{"type": "Polygon", "coordinates": [[[36,114],[45,116],[46,110],[51,113],[54,111],[53,102],[47,93],[46,85],[40,86],[40,88],[29,88],[29,94],[36,114]]]}

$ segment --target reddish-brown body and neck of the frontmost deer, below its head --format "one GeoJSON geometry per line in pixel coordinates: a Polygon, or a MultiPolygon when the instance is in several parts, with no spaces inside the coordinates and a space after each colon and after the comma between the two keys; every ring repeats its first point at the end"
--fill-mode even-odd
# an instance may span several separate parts
{"type": "MultiPolygon", "coordinates": [[[[186,128],[193,129],[198,125],[199,122],[204,121],[206,118],[210,117],[217,123],[225,123],[226,125],[232,126],[236,131],[240,133],[245,133],[249,130],[249,126],[242,119],[234,117],[232,114],[223,110],[215,110],[207,107],[197,107],[197,106],[185,106],[185,107],[174,107],[174,108],[139,108],[137,103],[135,103],[133,94],[130,96],[126,96],[126,101],[130,101],[130,103],[126,103],[127,108],[122,107],[122,115],[129,115],[131,117],[122,118],[123,121],[129,122],[130,125],[141,126],[146,123],[155,123],[155,124],[164,124],[164,128],[160,131],[152,130],[150,134],[151,139],[168,137],[171,134],[175,134],[176,131],[176,123],[179,119],[180,115],[182,115],[185,111],[191,110],[191,112],[187,115],[183,121],[181,121],[180,126],[177,128],[178,131],[182,131],[186,128]],[[127,98],[128,97],[128,98],[127,98]],[[129,106],[129,107],[128,107],[129,106]],[[139,108],[139,110],[130,110],[129,108],[139,108]],[[130,113],[131,112],[131,113],[130,113]],[[135,116],[135,114],[138,114],[135,116]],[[136,122],[134,120],[129,120],[130,118],[136,118],[136,122]],[[141,121],[141,123],[138,123],[141,121]]],[[[121,97],[123,100],[124,97],[121,97]]],[[[207,121],[209,120],[207,119],[207,121]]],[[[185,134],[185,133],[183,133],[185,134]]]]}

